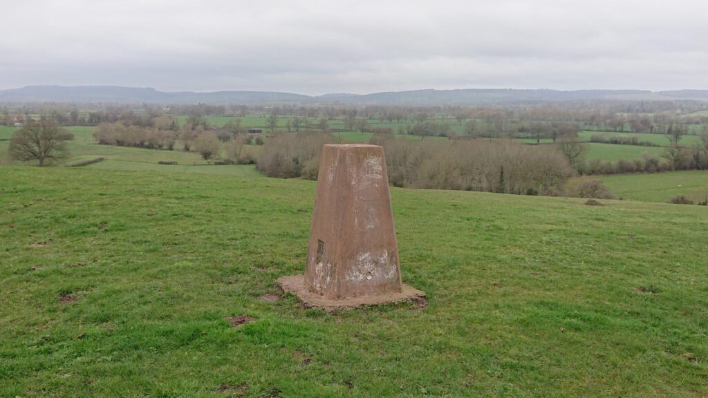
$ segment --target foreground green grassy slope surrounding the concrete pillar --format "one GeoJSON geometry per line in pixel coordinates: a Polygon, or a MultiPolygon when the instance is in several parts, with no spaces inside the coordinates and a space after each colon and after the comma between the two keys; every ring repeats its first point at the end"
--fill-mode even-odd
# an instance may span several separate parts
{"type": "Polygon", "coordinates": [[[332,315],[258,298],[304,268],[312,182],[0,173],[2,396],[708,394],[705,207],[393,189],[430,305],[332,315]]]}

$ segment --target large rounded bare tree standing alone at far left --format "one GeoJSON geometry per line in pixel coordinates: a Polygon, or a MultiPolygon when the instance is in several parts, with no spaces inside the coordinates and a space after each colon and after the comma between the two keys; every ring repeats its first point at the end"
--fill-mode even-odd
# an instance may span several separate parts
{"type": "Polygon", "coordinates": [[[40,166],[67,155],[67,141],[74,135],[50,119],[30,121],[10,139],[8,152],[12,159],[38,160],[40,166]]]}

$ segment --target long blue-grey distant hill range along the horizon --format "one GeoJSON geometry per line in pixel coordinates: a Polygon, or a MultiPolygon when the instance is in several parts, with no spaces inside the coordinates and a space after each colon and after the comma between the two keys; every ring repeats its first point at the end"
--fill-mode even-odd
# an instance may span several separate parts
{"type": "Polygon", "coordinates": [[[150,88],[120,86],[27,86],[0,90],[0,103],[76,102],[76,103],[156,103],[156,104],[285,104],[285,103],[360,103],[380,105],[483,105],[561,101],[708,101],[708,90],[573,90],[548,89],[459,89],[389,91],[365,95],[329,93],[305,96],[273,91],[193,91],[165,92],[150,88]]]}

